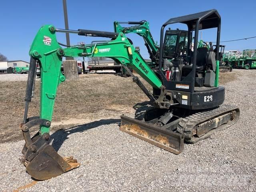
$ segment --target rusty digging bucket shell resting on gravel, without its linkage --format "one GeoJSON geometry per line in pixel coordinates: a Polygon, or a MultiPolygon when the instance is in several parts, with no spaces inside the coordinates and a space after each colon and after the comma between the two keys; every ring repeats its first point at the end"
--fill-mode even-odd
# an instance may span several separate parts
{"type": "Polygon", "coordinates": [[[62,158],[47,144],[31,162],[25,160],[28,174],[37,180],[47,180],[80,166],[73,157],[62,158]]]}

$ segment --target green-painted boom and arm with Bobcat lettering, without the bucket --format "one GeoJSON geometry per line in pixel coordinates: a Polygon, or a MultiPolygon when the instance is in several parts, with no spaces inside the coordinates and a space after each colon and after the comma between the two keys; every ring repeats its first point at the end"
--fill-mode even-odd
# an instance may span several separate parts
{"type": "MultiPolygon", "coordinates": [[[[94,41],[91,44],[83,46],[71,46],[62,48],[56,40],[56,31],[54,26],[42,26],[36,35],[30,48],[30,56],[39,60],[41,71],[41,100],[40,100],[40,118],[51,121],[56,99],[58,85],[64,82],[61,63],[62,57],[108,57],[130,66],[142,78],[144,78],[152,87],[160,88],[162,82],[156,76],[155,72],[146,64],[144,59],[138,54],[134,46],[129,42],[124,33],[118,33],[116,38],[109,41],[94,41]]],[[[80,30],[82,31],[82,30],[80,30]]],[[[85,32],[86,30],[83,30],[85,32]]],[[[72,31],[78,33],[78,31],[72,31]]],[[[87,31],[88,32],[88,31],[87,31]]],[[[80,35],[86,35],[81,33],[80,35]]],[[[110,34],[113,35],[113,34],[110,34]]],[[[99,34],[100,36],[100,34],[99,34]]],[[[40,126],[40,133],[48,133],[49,127],[40,126]]]]}

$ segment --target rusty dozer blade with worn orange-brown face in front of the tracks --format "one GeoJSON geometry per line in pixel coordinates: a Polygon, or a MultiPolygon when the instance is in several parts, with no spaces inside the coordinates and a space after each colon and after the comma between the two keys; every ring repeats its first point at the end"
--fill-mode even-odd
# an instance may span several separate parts
{"type": "Polygon", "coordinates": [[[168,126],[158,126],[152,123],[121,115],[120,130],[174,154],[180,154],[184,149],[184,135],[173,132],[168,126]]]}

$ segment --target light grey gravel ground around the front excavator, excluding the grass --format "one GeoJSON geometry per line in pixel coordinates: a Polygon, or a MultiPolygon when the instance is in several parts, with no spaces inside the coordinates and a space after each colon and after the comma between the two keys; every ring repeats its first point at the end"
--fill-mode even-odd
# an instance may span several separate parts
{"type": "Polygon", "coordinates": [[[82,165],[46,181],[32,180],[18,161],[23,141],[0,144],[1,191],[255,191],[256,71],[234,71],[225,103],[240,108],[240,120],[181,154],[119,131],[118,118],[100,120],[52,135],[59,154],[82,165]]]}

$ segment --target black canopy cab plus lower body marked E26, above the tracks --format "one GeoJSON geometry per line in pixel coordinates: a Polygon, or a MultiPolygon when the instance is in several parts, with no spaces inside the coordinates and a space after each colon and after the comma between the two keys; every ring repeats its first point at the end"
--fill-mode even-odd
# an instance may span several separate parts
{"type": "Polygon", "coordinates": [[[220,15],[213,9],[171,18],[163,24],[158,75],[164,88],[154,90],[156,96],[162,95],[160,92],[166,92],[165,98],[160,101],[163,106],[176,105],[178,102],[177,107],[204,109],[224,102],[224,88],[218,86],[220,21],[220,15]],[[177,23],[185,24],[188,30],[168,28],[164,36],[164,28],[177,23]],[[212,42],[210,47],[203,44],[198,46],[198,31],[211,28],[217,28],[215,52],[212,42]],[[205,102],[205,96],[214,99],[206,99],[205,102]],[[167,103],[166,100],[170,102],[167,103]]]}

